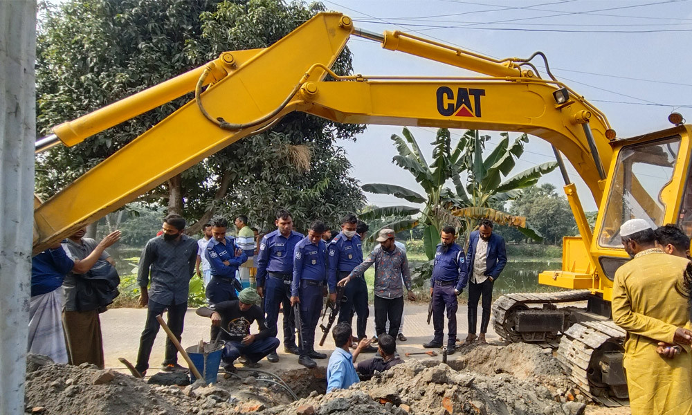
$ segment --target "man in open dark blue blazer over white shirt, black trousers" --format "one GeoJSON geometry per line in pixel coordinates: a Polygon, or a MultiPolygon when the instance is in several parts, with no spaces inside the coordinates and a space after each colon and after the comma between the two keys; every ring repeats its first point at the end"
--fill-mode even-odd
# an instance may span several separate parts
{"type": "Polygon", "coordinates": [[[476,338],[484,344],[485,333],[490,322],[490,308],[493,304],[493,283],[507,265],[507,250],[504,239],[493,233],[493,222],[488,219],[480,221],[478,230],[471,232],[468,238],[466,268],[468,270],[468,335],[464,344],[473,343],[476,338]],[[476,336],[478,300],[483,297],[483,315],[480,320],[480,335],[476,336]]]}

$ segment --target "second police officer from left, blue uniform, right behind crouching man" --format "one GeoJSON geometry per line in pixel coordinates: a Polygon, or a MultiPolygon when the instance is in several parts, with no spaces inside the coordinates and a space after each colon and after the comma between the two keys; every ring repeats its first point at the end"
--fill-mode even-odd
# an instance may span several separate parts
{"type": "MultiPolygon", "coordinates": [[[[257,293],[264,297],[264,324],[277,337],[279,307],[284,306],[284,351],[298,354],[295,345],[295,317],[291,308],[291,282],[293,281],[293,250],[303,234],[293,230],[293,218],[287,210],[276,214],[277,230],[264,235],[257,254],[257,293]]],[[[278,362],[276,351],[266,357],[278,362]]]]}

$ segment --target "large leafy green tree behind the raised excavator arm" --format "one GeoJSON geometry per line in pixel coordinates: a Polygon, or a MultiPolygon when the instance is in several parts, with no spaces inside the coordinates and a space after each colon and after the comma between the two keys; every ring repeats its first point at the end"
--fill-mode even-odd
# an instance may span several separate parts
{"type": "MultiPolygon", "coordinates": [[[[47,133],[64,120],[201,66],[221,51],[270,46],[322,10],[320,3],[276,0],[71,0],[49,7],[37,42],[39,130],[47,133]]],[[[333,69],[343,75],[352,71],[349,50],[333,69]]],[[[54,194],[190,98],[73,149],[55,147],[42,154],[37,189],[54,194]]],[[[174,176],[140,201],[183,214],[192,233],[215,214],[248,214],[252,223],[268,226],[280,205],[290,206],[299,220],[336,221],[343,212],[361,208],[363,194],[335,140],[354,139],[362,130],[293,113],[271,131],[235,142],[174,176]]],[[[143,155],[147,158],[156,154],[143,155]]]]}

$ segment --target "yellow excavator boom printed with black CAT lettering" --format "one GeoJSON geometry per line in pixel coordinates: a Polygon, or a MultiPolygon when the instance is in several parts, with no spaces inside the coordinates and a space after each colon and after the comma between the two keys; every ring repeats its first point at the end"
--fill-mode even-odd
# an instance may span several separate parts
{"type": "MultiPolygon", "coordinates": [[[[576,117],[589,109],[582,102],[556,108],[552,95],[556,87],[549,82],[500,78],[353,79],[308,82],[298,109],[345,123],[529,133],[562,151],[589,186],[596,203],[601,201],[600,178],[576,117]]],[[[612,149],[605,138],[608,125],[599,118],[592,118],[590,125],[601,159],[610,165],[612,149]]]]}

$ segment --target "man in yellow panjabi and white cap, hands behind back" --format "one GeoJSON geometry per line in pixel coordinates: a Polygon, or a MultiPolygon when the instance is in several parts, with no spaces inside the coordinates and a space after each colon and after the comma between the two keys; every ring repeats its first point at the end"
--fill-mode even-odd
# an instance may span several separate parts
{"type": "Polygon", "coordinates": [[[622,244],[632,260],[615,272],[612,317],[627,331],[625,357],[632,415],[692,414],[692,332],[687,301],[675,289],[682,283],[687,259],[655,246],[655,234],[644,219],[620,228],[622,244]],[[657,343],[682,345],[682,353],[666,359],[657,343]]]}

